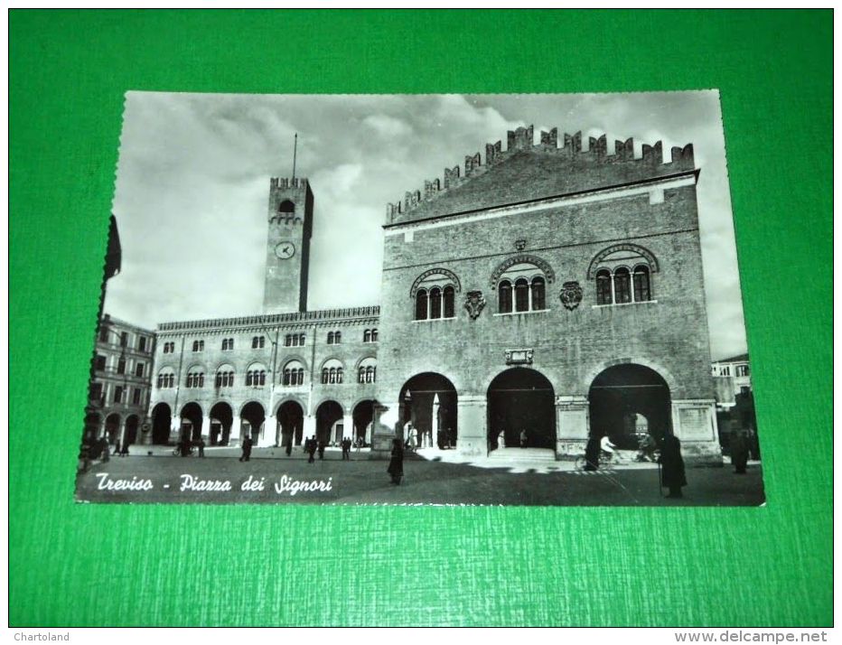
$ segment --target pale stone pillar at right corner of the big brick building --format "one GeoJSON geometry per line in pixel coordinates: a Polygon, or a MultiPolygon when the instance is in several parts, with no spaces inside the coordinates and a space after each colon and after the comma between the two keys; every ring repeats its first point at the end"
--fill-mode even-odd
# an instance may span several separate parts
{"type": "Polygon", "coordinates": [[[685,463],[722,465],[713,399],[674,399],[672,432],[681,442],[685,463]]]}

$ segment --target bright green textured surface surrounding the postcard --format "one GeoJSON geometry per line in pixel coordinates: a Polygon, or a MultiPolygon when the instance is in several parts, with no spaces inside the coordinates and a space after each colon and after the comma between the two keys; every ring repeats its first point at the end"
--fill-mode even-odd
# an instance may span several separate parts
{"type": "Polygon", "coordinates": [[[12,624],[832,621],[830,11],[13,11],[10,38],[12,624]],[[74,503],[126,90],[706,88],[765,508],[74,503]]]}

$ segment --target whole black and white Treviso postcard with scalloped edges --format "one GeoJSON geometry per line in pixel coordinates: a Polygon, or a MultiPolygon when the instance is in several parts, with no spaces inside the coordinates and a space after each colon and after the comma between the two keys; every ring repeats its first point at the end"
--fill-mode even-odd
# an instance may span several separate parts
{"type": "Polygon", "coordinates": [[[763,503],[716,90],[129,92],[119,146],[78,500],[763,503]]]}

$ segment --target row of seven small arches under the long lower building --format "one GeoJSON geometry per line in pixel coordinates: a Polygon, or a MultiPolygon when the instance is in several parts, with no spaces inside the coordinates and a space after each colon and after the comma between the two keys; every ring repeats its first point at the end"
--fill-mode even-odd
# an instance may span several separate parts
{"type": "MultiPolygon", "coordinates": [[[[361,437],[364,442],[370,441],[371,420],[374,416],[374,400],[366,399],[353,407],[351,414],[352,428],[344,427],[344,409],[334,400],[323,401],[316,408],[315,435],[319,441],[327,444],[338,444],[345,436],[352,440],[361,437]]],[[[208,426],[208,443],[210,445],[228,445],[232,433],[236,433],[234,425],[234,410],[226,402],[219,402],[208,411],[210,425],[208,426]]],[[[168,444],[173,439],[183,437],[198,441],[203,435],[203,410],[192,401],[182,406],[179,411],[177,436],[171,435],[173,427],[173,409],[166,403],[158,403],[152,410],[152,442],[154,444],[168,444]]],[[[250,435],[254,441],[263,439],[264,443],[272,441],[266,436],[266,409],[257,401],[249,401],[239,410],[240,439],[250,435]]],[[[287,400],[278,406],[276,411],[276,428],[274,442],[277,445],[301,445],[304,441],[304,407],[295,400],[287,400]]]]}

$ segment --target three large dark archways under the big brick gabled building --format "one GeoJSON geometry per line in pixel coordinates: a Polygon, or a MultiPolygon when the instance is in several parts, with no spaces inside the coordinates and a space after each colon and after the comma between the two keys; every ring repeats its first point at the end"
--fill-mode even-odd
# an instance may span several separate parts
{"type": "MultiPolygon", "coordinates": [[[[400,390],[400,423],[411,423],[430,444],[458,443],[458,395],[441,374],[426,372],[408,379],[400,390]]],[[[588,391],[590,435],[608,435],[621,449],[634,449],[641,435],[659,440],[672,432],[669,385],[649,367],[623,363],[604,369],[588,391]]],[[[486,391],[486,419],[491,449],[499,437],[520,445],[523,435],[533,448],[556,449],[556,393],[541,372],[529,368],[502,371],[486,391]]]]}

